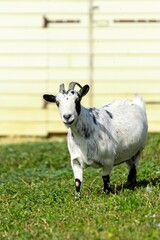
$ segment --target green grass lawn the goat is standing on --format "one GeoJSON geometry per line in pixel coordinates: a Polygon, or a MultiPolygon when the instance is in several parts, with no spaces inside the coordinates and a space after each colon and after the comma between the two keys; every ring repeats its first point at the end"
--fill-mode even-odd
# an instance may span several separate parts
{"type": "Polygon", "coordinates": [[[66,142],[0,146],[0,239],[159,239],[159,153],[160,136],[149,135],[134,192],[125,164],[112,171],[116,195],[102,193],[100,170],[86,169],[75,201],[66,142]]]}

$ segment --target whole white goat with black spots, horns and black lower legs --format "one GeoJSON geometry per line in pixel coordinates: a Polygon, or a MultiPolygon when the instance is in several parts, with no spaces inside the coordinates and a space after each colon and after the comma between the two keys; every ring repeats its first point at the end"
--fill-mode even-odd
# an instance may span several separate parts
{"type": "Polygon", "coordinates": [[[71,82],[68,91],[61,84],[56,96],[43,96],[46,101],[57,104],[62,121],[69,128],[68,148],[76,195],[80,195],[83,169],[87,166],[103,168],[104,191],[112,192],[112,167],[123,162],[129,167],[128,186],[134,189],[136,168],[147,137],[145,104],[136,96],[133,101],[120,100],[87,109],[80,102],[88,91],[88,85],[81,87],[71,82]],[[74,90],[76,85],[79,91],[74,90]]]}

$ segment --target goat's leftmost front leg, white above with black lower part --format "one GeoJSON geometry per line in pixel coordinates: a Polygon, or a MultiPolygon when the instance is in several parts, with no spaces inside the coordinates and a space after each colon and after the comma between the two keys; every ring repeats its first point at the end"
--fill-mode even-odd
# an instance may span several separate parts
{"type": "Polygon", "coordinates": [[[78,159],[74,159],[72,161],[72,169],[74,173],[75,188],[76,188],[75,199],[79,199],[80,191],[82,187],[82,181],[83,181],[83,168],[78,159]]]}

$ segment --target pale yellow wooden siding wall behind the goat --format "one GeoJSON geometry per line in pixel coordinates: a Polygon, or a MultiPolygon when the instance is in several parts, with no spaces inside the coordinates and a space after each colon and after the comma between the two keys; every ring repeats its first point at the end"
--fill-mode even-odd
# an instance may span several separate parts
{"type": "MultiPolygon", "coordinates": [[[[135,93],[160,101],[160,1],[92,2],[91,29],[89,0],[0,0],[0,135],[66,132],[42,100],[62,82],[92,80],[86,106],[135,93]]],[[[147,112],[160,131],[160,104],[147,112]]]]}

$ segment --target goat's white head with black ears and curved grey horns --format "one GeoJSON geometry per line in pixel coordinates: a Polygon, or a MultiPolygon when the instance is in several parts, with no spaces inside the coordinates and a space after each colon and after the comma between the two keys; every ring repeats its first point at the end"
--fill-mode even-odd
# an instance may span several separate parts
{"type": "Polygon", "coordinates": [[[71,82],[67,91],[65,91],[64,84],[61,84],[59,93],[56,96],[45,94],[43,98],[47,102],[57,104],[62,121],[67,126],[70,126],[77,120],[81,112],[81,99],[88,91],[88,85],[82,87],[77,82],[71,82]],[[79,91],[75,90],[76,85],[80,88],[79,91]]]}

